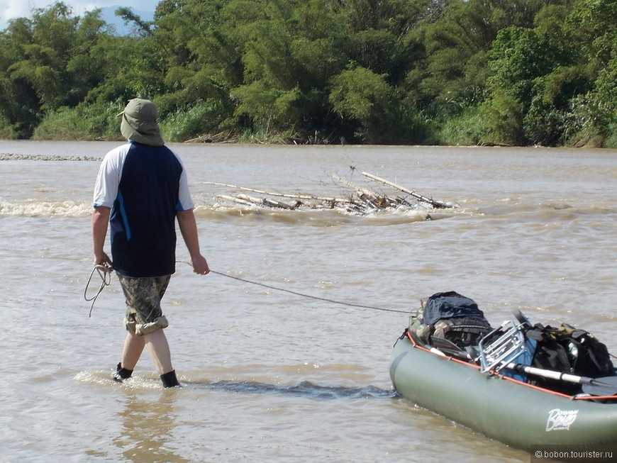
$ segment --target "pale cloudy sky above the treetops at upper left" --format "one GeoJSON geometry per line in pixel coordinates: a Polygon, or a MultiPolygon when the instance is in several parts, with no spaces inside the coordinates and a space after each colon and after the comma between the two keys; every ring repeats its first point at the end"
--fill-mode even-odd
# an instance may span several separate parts
{"type": "MultiPolygon", "coordinates": [[[[159,0],[63,0],[73,10],[74,16],[82,16],[86,11],[107,6],[130,6],[135,11],[155,11],[159,0]]],[[[6,29],[9,19],[30,18],[30,11],[35,8],[48,8],[55,0],[0,0],[0,30],[6,29]]]]}

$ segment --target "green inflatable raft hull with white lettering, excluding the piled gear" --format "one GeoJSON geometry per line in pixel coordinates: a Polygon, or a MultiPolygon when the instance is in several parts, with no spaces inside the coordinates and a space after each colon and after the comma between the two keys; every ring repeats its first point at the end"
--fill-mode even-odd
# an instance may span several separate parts
{"type": "Polygon", "coordinates": [[[390,376],[409,401],[511,447],[617,444],[617,396],[568,396],[483,372],[421,345],[408,330],[394,345],[390,376]]]}

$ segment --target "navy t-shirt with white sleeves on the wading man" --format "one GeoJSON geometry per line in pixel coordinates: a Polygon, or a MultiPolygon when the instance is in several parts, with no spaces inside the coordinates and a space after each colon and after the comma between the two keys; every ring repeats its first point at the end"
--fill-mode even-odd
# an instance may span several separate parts
{"type": "Polygon", "coordinates": [[[174,152],[134,142],[109,152],[97,178],[94,206],[109,207],[110,201],[113,269],[127,277],[173,274],[176,213],[193,207],[174,152]]]}

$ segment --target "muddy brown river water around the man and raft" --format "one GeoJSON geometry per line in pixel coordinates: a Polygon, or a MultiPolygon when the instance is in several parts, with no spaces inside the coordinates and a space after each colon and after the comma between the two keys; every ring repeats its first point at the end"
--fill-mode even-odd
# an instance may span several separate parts
{"type": "Polygon", "coordinates": [[[171,145],[220,273],[180,263],[165,296],[183,387],[162,389],[147,353],[116,384],[116,277],[91,317],[84,299],[88,159],[116,145],[0,142],[30,155],[0,160],[2,461],[528,462],[396,396],[389,357],[408,311],[455,290],[493,325],[521,309],[617,352],[616,150],[171,145]],[[396,196],[362,171],[460,207],[282,211],[208,183],[343,196],[338,174],[396,196]]]}

